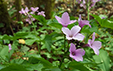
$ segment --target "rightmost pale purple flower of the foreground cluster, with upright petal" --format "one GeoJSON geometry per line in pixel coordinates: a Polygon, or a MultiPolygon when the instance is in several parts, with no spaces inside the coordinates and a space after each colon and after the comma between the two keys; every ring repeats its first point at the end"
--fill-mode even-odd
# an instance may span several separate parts
{"type": "Polygon", "coordinates": [[[95,32],[93,33],[92,40],[91,39],[88,40],[88,45],[94,50],[95,54],[99,55],[99,49],[101,48],[102,44],[100,41],[94,41],[94,40],[95,40],[95,32]]]}

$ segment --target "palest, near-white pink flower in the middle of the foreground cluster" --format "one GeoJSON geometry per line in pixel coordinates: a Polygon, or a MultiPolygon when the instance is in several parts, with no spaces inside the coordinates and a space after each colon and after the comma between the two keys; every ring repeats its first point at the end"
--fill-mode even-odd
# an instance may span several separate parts
{"type": "Polygon", "coordinates": [[[79,26],[74,26],[74,27],[72,27],[71,30],[69,30],[67,27],[62,28],[62,31],[66,35],[66,38],[68,40],[72,40],[72,39],[75,39],[75,40],[78,40],[78,41],[83,40],[84,35],[79,33],[80,30],[81,30],[81,28],[79,26]]]}

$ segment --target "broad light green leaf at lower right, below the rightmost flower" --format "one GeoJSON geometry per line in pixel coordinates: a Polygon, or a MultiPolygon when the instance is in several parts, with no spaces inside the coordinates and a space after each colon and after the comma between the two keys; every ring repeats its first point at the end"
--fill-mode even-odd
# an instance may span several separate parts
{"type": "Polygon", "coordinates": [[[93,58],[96,63],[101,63],[98,65],[101,71],[110,71],[110,58],[105,50],[100,50],[99,55],[94,55],[93,58]]]}

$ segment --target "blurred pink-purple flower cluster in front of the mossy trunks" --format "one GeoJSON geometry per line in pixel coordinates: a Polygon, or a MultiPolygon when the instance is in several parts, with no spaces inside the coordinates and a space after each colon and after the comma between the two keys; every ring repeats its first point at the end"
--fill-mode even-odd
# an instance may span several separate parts
{"type": "Polygon", "coordinates": [[[42,15],[45,17],[45,14],[44,14],[45,12],[44,11],[39,12],[38,9],[39,9],[39,7],[36,7],[36,8],[31,7],[31,12],[29,12],[30,10],[28,9],[28,7],[26,7],[25,10],[22,8],[21,11],[19,11],[19,13],[27,16],[26,22],[31,24],[32,21],[35,21],[35,18],[33,18],[32,15],[30,15],[30,14],[37,13],[37,15],[42,15]]]}

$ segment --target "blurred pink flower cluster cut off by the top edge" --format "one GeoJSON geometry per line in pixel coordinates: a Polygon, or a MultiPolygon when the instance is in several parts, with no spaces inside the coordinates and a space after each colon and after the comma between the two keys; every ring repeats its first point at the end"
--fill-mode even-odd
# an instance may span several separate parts
{"type": "Polygon", "coordinates": [[[84,9],[86,9],[88,5],[87,3],[89,3],[90,5],[89,9],[91,9],[96,4],[96,2],[100,0],[76,0],[76,1],[80,4],[80,7],[83,7],[84,9]]]}

